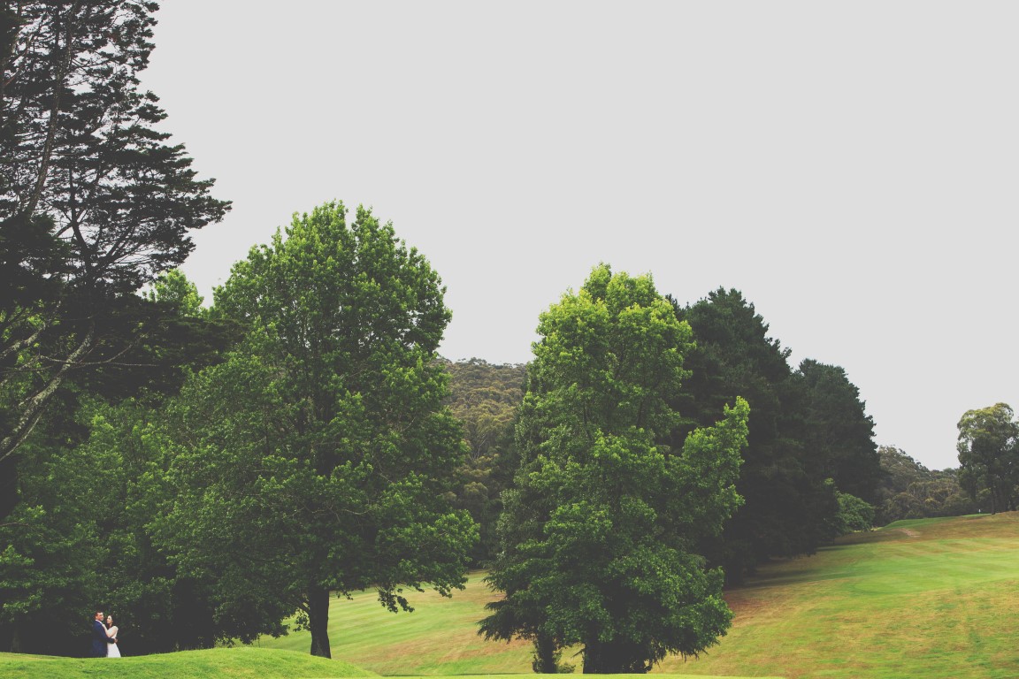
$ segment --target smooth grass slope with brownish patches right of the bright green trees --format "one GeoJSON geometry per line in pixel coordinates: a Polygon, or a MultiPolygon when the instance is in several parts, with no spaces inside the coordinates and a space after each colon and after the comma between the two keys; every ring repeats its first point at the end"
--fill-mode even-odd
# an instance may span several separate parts
{"type": "Polygon", "coordinates": [[[729,635],[666,672],[1019,677],[1019,514],[897,521],[730,591],[729,635]]]}

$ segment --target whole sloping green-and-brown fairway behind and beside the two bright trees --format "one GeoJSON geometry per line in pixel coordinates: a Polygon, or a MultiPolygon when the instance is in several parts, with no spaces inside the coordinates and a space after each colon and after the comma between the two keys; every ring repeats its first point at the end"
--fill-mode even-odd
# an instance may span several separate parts
{"type": "MultiPolygon", "coordinates": [[[[335,600],[334,658],[379,674],[530,671],[527,643],[475,633],[491,595],[480,574],[451,600],[416,595],[387,613],[370,592],[335,600]]],[[[716,676],[1019,677],[1019,514],[898,521],[763,567],[727,596],[729,635],[662,673],[716,676]]],[[[307,633],[265,639],[307,653],[307,633]]],[[[580,660],[575,661],[580,669],[580,660]]]]}

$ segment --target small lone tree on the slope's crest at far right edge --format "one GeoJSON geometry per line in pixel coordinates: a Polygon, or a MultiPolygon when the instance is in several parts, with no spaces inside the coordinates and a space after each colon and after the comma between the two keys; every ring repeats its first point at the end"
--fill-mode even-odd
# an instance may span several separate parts
{"type": "Polygon", "coordinates": [[[1019,499],[1019,422],[1007,403],[967,410],[959,420],[959,483],[990,511],[1013,511],[1019,499]]]}

